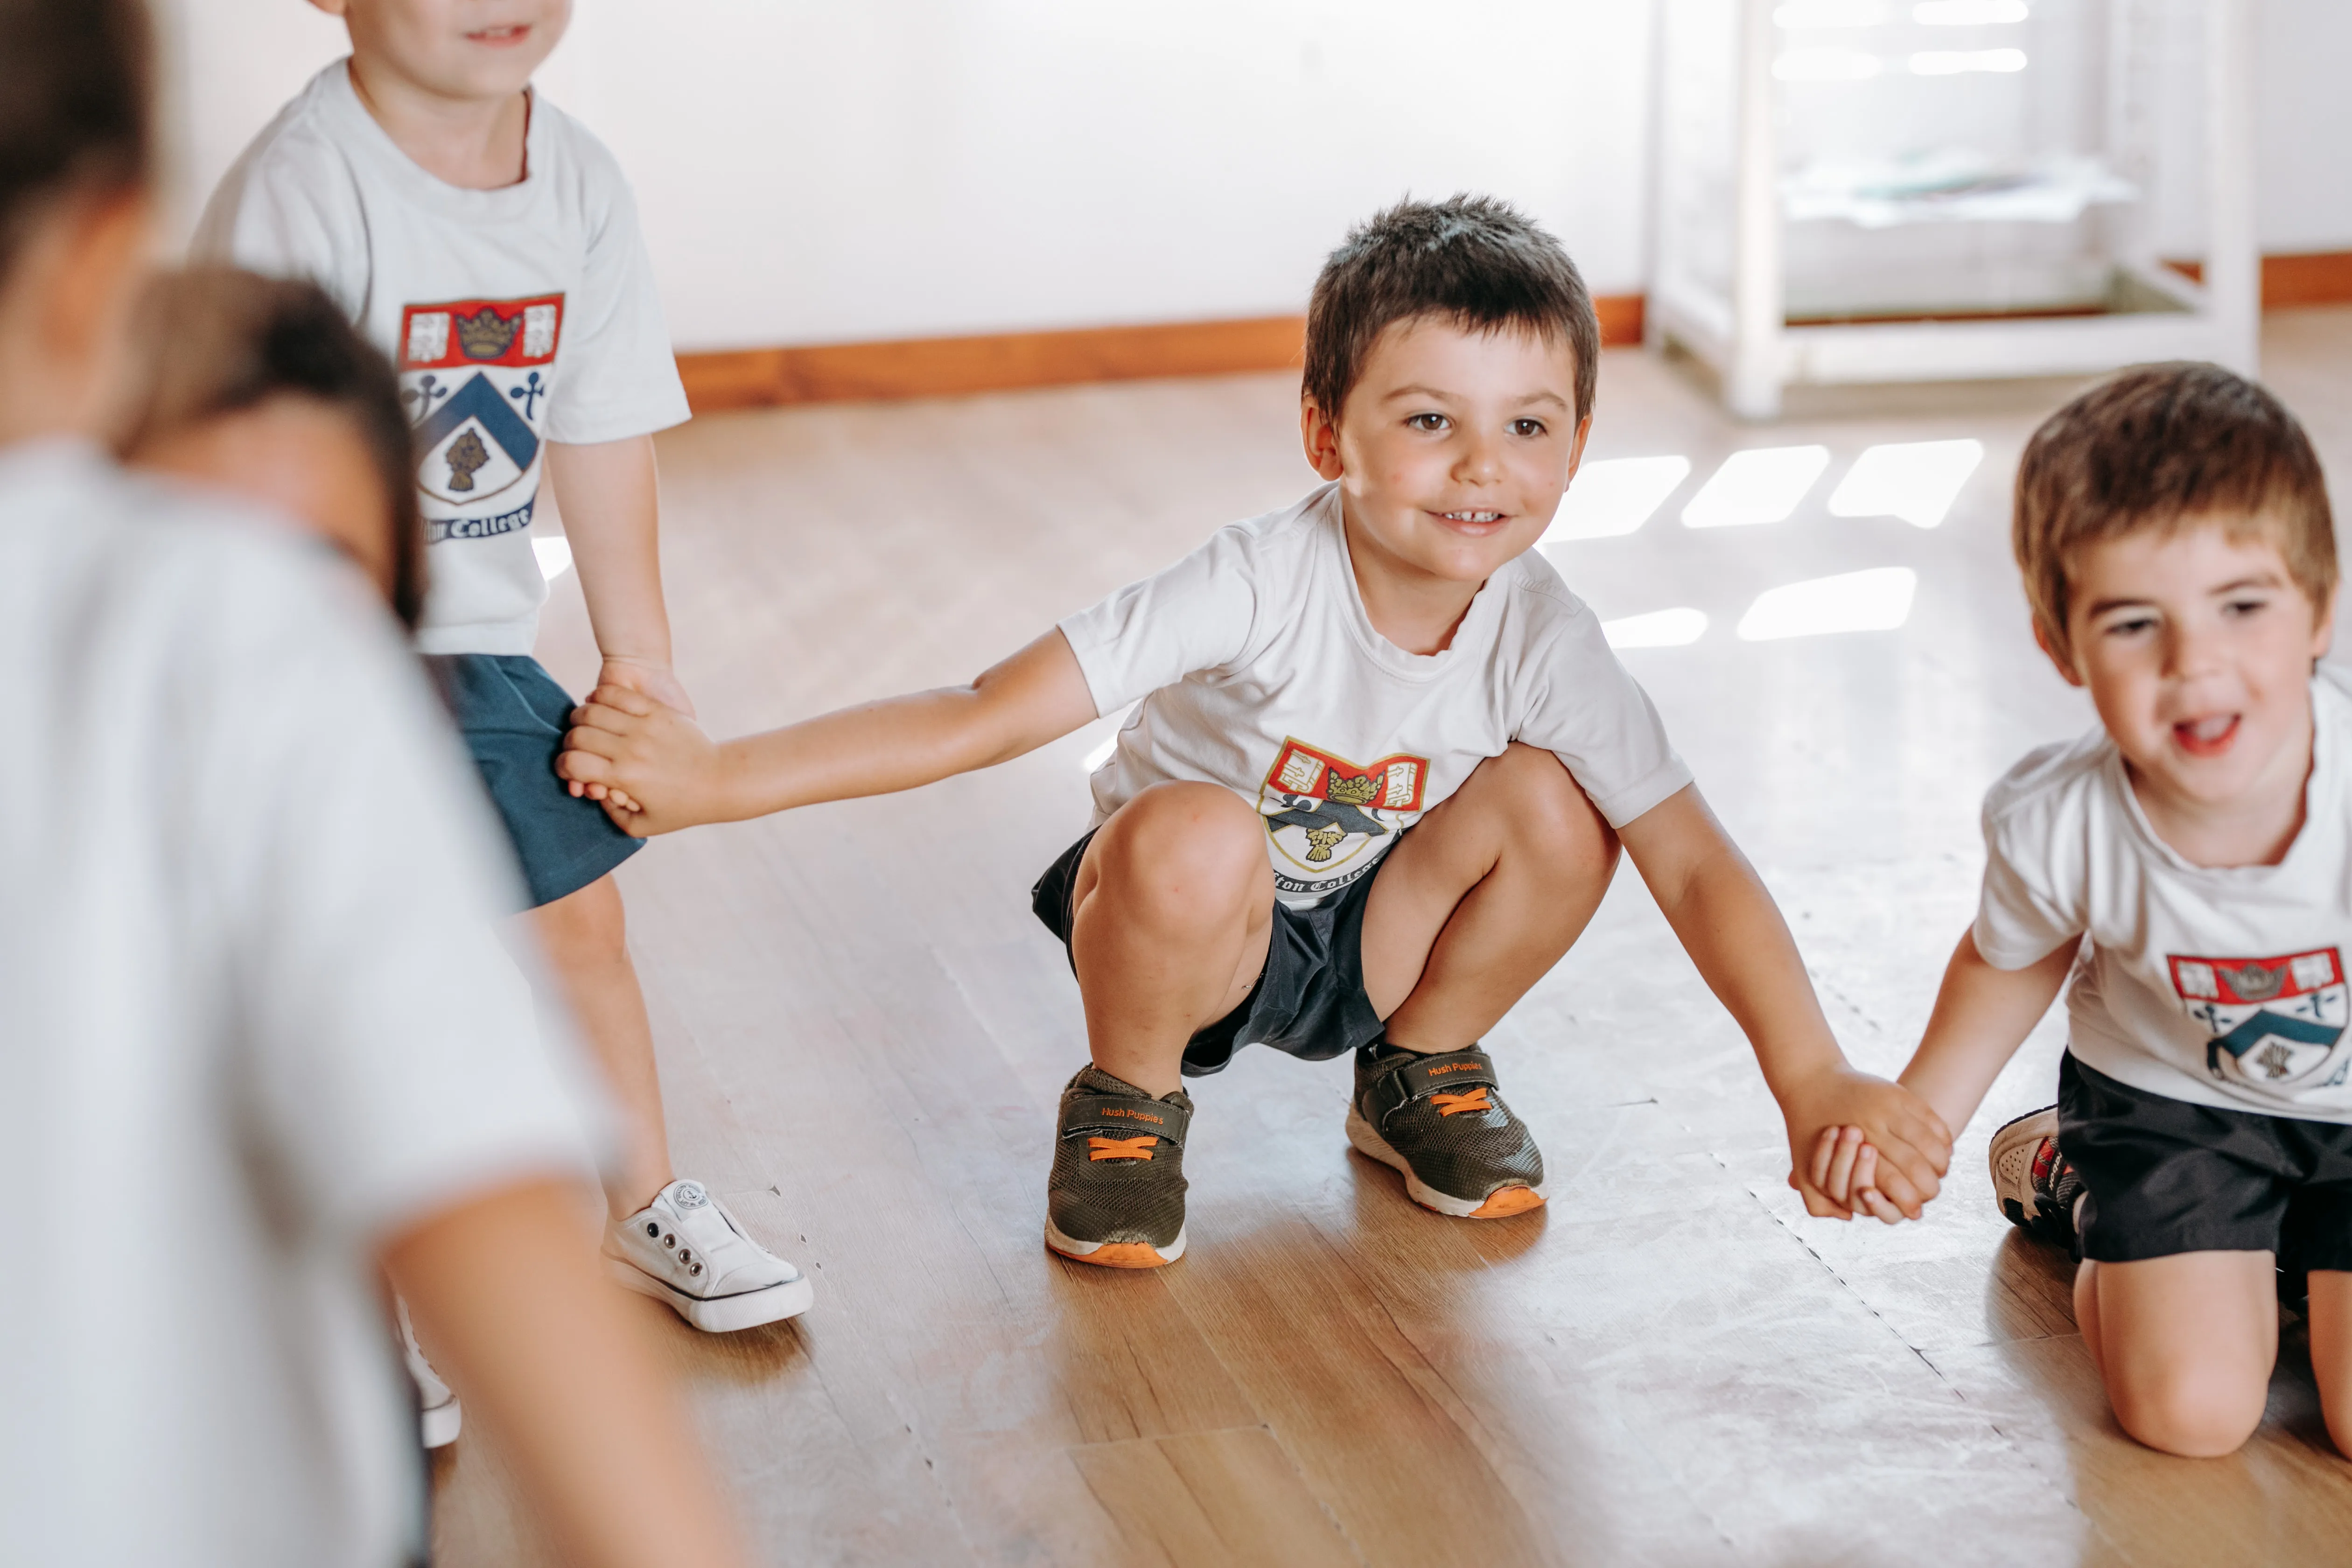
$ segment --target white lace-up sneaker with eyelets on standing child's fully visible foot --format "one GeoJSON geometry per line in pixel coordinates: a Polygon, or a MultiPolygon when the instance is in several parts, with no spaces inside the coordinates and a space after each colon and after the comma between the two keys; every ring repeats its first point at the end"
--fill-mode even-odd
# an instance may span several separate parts
{"type": "Polygon", "coordinates": [[[701,1182],[677,1180],[604,1225],[604,1272],[668,1302],[703,1333],[800,1316],[814,1293],[800,1269],[750,1239],[701,1182]]]}

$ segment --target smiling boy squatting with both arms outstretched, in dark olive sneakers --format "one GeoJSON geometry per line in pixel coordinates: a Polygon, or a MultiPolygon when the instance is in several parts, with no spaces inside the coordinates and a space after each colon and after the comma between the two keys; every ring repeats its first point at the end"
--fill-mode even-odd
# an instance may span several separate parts
{"type": "Polygon", "coordinates": [[[1950,1140],[1846,1067],[1762,882],[1531,552],[1590,428],[1597,350],[1573,263],[1517,212],[1392,207],[1315,284],[1301,425],[1327,482],[1303,501],[969,686],[727,745],[604,686],[562,769],[666,832],[906,790],[1136,703],[1094,830],[1035,889],[1094,1056],[1049,1178],[1047,1246],[1068,1258],[1183,1253],[1181,1079],[1261,1041],[1355,1053],[1348,1135],[1416,1201],[1538,1206],[1543,1157],[1477,1041],[1583,931],[1618,844],[1755,1041],[1792,1147],[1867,1121],[1917,1206],[1950,1140]]]}

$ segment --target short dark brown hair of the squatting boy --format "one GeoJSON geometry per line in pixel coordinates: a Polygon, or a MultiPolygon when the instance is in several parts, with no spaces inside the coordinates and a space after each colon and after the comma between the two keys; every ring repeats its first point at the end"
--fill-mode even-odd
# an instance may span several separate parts
{"type": "Polygon", "coordinates": [[[1338,418],[1381,334],[1418,315],[1465,331],[1534,331],[1576,355],[1576,418],[1592,414],[1602,324],[1583,273],[1534,219],[1491,195],[1397,202],[1348,230],[1308,299],[1303,395],[1338,418]]]}

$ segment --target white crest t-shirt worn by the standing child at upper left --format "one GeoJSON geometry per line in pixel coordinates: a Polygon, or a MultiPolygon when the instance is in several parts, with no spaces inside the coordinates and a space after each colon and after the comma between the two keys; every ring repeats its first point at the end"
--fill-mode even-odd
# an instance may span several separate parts
{"type": "Polygon", "coordinates": [[[541,442],[687,418],[621,165],[532,92],[527,179],[461,190],[393,146],[327,66],[212,193],[195,254],[310,277],[400,367],[433,545],[416,646],[529,654],[541,442]]]}

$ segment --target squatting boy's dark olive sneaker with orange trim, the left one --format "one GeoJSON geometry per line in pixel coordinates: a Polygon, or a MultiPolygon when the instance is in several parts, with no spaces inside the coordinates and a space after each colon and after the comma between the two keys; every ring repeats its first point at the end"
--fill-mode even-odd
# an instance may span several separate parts
{"type": "Polygon", "coordinates": [[[1192,1095],[1155,1100],[1101,1067],[1061,1091],[1061,1133],[1044,1185],[1044,1244],[1110,1269],[1183,1258],[1183,1138],[1192,1095]]]}

